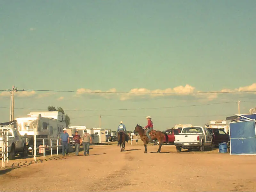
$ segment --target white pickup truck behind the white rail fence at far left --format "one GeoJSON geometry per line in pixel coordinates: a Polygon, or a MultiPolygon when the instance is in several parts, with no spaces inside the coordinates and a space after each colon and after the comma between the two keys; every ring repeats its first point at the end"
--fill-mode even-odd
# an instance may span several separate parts
{"type": "MultiPolygon", "coordinates": [[[[6,140],[7,133],[9,140],[9,159],[14,159],[16,154],[21,154],[23,157],[28,155],[28,143],[26,142],[26,136],[21,136],[20,132],[16,128],[12,127],[0,127],[0,140],[6,140]]],[[[3,141],[0,141],[0,150],[2,151],[3,141]]]]}

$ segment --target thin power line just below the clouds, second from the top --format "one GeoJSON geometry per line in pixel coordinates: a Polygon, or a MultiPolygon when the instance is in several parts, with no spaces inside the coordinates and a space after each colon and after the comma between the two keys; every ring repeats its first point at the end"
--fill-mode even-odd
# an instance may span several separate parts
{"type": "MultiPolygon", "coordinates": [[[[196,106],[206,106],[206,105],[217,105],[217,104],[227,104],[236,103],[234,101],[229,102],[219,102],[219,103],[207,103],[207,104],[197,104],[197,105],[182,105],[182,106],[171,106],[171,107],[155,107],[155,108],[123,108],[123,109],[65,109],[65,111],[122,111],[122,110],[147,110],[147,109],[166,109],[166,108],[181,108],[181,107],[196,107],[196,106]]],[[[7,107],[0,107],[7,108],[7,107]]],[[[15,108],[15,109],[25,109],[25,110],[46,110],[40,108],[15,108]]]]}

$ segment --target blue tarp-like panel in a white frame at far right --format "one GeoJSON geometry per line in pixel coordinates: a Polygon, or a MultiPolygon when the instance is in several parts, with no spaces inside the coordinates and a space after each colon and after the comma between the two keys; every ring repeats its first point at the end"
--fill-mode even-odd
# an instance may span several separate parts
{"type": "Polygon", "coordinates": [[[242,121],[229,124],[230,153],[256,154],[255,121],[242,121]]]}

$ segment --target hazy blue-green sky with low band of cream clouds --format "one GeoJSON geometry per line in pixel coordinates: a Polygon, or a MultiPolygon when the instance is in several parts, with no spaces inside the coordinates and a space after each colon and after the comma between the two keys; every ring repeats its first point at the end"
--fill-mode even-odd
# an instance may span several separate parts
{"type": "MultiPolygon", "coordinates": [[[[0,90],[19,90],[15,117],[52,105],[72,126],[203,126],[238,100],[256,107],[255,92],[194,94],[256,91],[255,23],[255,0],[0,0],[0,90]]],[[[9,114],[2,91],[0,121],[9,114]]]]}

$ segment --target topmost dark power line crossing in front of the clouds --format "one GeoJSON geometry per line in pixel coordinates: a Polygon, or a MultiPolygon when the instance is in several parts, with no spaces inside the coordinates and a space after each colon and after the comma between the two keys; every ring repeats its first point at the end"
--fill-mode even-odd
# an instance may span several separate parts
{"type": "MultiPolygon", "coordinates": [[[[8,90],[0,90],[8,91],[8,90]]],[[[101,92],[101,91],[67,91],[67,90],[39,90],[39,89],[23,89],[22,91],[38,91],[38,92],[73,92],[73,93],[112,93],[112,94],[209,94],[209,93],[249,93],[256,91],[216,91],[216,92],[101,92]]]]}

